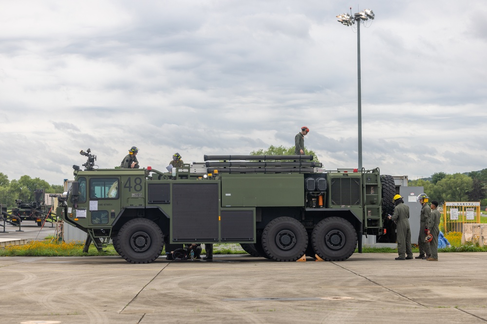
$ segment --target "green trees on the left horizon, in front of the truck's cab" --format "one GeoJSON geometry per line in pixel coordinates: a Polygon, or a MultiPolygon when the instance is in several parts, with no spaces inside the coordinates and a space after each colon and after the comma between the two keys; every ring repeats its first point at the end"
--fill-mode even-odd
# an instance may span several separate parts
{"type": "Polygon", "coordinates": [[[63,186],[50,185],[47,181],[40,178],[31,178],[22,175],[19,180],[9,180],[6,174],[0,172],[0,203],[9,207],[15,206],[15,200],[23,202],[35,201],[34,190],[44,189],[45,193],[62,193],[63,186]]]}

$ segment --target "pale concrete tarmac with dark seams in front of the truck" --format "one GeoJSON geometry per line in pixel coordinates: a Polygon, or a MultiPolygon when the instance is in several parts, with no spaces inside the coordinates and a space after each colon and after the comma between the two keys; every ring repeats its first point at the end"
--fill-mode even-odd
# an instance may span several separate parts
{"type": "Polygon", "coordinates": [[[487,253],[0,257],[0,323],[486,323],[487,253]]]}

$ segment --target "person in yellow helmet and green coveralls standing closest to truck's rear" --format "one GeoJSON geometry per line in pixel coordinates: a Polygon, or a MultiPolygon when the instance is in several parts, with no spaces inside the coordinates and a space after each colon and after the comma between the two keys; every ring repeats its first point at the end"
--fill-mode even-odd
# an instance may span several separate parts
{"type": "Polygon", "coordinates": [[[411,247],[411,227],[409,225],[409,206],[404,204],[401,195],[395,195],[394,212],[387,218],[397,223],[397,253],[396,260],[410,260],[412,259],[411,247]]]}

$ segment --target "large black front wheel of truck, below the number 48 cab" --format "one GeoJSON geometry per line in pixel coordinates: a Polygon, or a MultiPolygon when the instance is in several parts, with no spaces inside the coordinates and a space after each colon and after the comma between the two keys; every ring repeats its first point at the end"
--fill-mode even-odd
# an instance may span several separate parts
{"type": "Polygon", "coordinates": [[[130,263],[150,263],[161,255],[164,234],[156,223],[136,218],[120,228],[116,244],[120,256],[130,263]]]}

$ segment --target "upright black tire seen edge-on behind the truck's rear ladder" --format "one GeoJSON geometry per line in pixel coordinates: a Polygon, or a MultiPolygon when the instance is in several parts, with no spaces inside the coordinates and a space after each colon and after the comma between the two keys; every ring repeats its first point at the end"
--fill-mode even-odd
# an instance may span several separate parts
{"type": "Polygon", "coordinates": [[[380,235],[377,241],[381,243],[394,243],[397,239],[397,225],[387,218],[387,215],[392,215],[394,212],[393,198],[396,192],[394,178],[391,175],[381,175],[380,184],[382,186],[382,222],[383,227],[386,229],[386,234],[380,235]]]}

